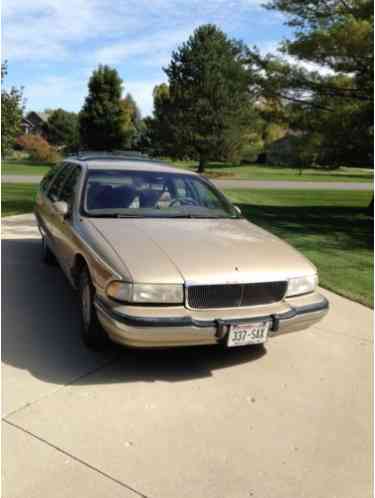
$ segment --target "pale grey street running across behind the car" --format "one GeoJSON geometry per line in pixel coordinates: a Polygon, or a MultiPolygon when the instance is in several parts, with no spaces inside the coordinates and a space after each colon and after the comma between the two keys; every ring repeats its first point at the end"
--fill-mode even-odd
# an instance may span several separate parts
{"type": "MultiPolygon", "coordinates": [[[[32,175],[3,175],[3,183],[39,183],[42,176],[32,175]]],[[[220,189],[299,189],[299,190],[372,190],[372,183],[360,182],[299,182],[275,180],[213,180],[220,189]]]]}

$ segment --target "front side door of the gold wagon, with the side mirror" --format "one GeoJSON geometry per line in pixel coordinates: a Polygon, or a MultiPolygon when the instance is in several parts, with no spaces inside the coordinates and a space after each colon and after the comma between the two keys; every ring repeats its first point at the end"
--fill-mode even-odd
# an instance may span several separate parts
{"type": "Polygon", "coordinates": [[[57,214],[55,225],[55,254],[63,270],[69,275],[71,261],[75,253],[75,239],[72,233],[74,222],[74,208],[76,202],[77,188],[81,179],[82,171],[79,165],[71,165],[71,168],[57,193],[57,200],[68,204],[69,212],[66,217],[57,214]]]}

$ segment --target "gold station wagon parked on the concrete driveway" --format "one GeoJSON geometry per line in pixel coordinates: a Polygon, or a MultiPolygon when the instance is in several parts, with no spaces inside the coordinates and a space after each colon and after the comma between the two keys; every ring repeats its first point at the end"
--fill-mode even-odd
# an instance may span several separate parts
{"type": "Polygon", "coordinates": [[[328,310],[316,268],[207,179],[130,154],[66,159],[35,215],[79,291],[82,338],[134,347],[264,343],[328,310]]]}

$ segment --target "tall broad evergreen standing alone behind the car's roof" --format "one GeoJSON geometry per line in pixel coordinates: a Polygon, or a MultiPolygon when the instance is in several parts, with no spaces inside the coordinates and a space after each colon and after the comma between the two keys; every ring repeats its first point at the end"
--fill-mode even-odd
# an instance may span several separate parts
{"type": "Polygon", "coordinates": [[[249,101],[243,56],[241,43],[208,24],[173,52],[165,69],[169,95],[163,88],[157,96],[156,118],[166,111],[161,120],[175,150],[198,158],[199,172],[208,160],[242,147],[249,101]]]}

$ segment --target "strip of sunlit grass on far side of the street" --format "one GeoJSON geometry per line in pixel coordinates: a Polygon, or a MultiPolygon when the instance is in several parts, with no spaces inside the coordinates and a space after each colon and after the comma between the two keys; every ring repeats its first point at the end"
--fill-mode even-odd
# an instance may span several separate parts
{"type": "MultiPolygon", "coordinates": [[[[194,161],[171,161],[171,164],[184,169],[196,170],[194,161]]],[[[3,175],[44,175],[49,165],[42,165],[32,161],[8,160],[2,164],[3,175]]],[[[372,182],[373,170],[365,168],[341,167],[334,171],[309,168],[300,175],[297,169],[246,164],[235,166],[230,163],[210,163],[206,176],[218,179],[238,180],[281,180],[281,181],[324,181],[324,182],[372,182]]]]}

